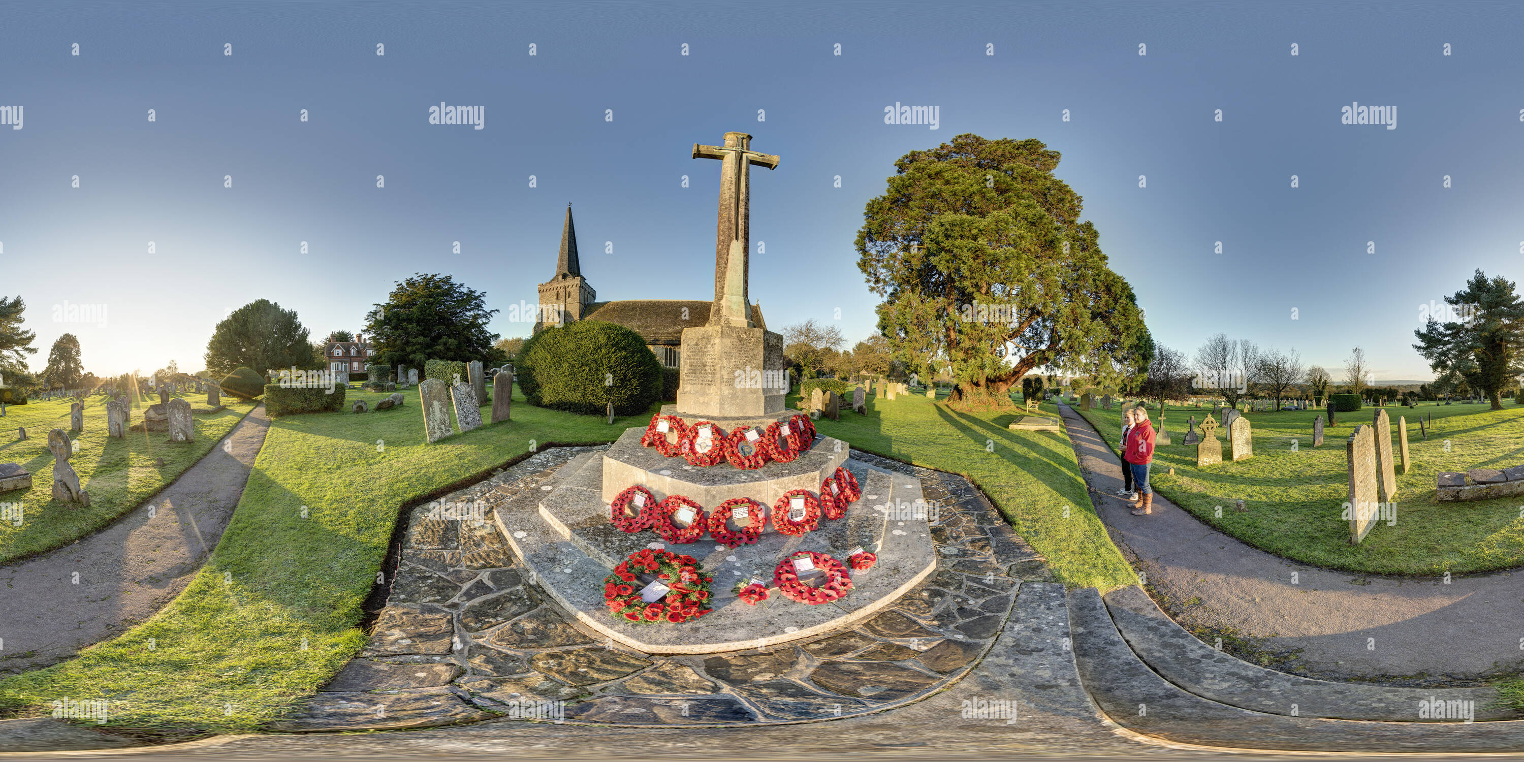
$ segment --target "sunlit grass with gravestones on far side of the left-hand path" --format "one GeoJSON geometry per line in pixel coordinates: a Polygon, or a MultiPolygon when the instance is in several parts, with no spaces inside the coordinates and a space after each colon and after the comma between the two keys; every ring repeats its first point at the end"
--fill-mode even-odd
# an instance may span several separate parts
{"type": "MultiPolygon", "coordinates": [[[[206,395],[171,395],[190,402],[190,408],[206,408],[206,395]]],[[[0,418],[0,463],[20,463],[32,472],[32,488],[0,494],[0,501],[21,503],[23,523],[0,523],[0,564],[67,546],[116,521],[123,514],[169,486],[180,474],[212,451],[239,421],[255,408],[223,396],[227,410],[192,415],[195,442],[169,442],[168,431],[128,431],[126,439],[107,436],[105,395],[87,396],[84,431],[69,431],[69,405],[73,399],[50,399],[24,405],[6,405],[0,418]],[[17,439],[17,427],[26,427],[26,440],[17,439]],[[79,451],[69,462],[79,474],[79,483],[90,494],[90,507],[53,501],[53,454],[47,450],[47,431],[62,428],[79,442],[79,451]],[[163,468],[154,459],[163,457],[163,468]]],[[[133,401],[133,422],[143,421],[149,401],[133,401]]]]}

